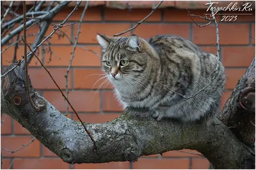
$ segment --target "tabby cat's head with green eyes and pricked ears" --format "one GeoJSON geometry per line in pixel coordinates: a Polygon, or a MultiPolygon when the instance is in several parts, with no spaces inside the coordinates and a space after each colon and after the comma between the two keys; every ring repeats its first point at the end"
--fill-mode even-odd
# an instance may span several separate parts
{"type": "Polygon", "coordinates": [[[148,74],[148,43],[136,35],[109,37],[98,34],[102,47],[102,70],[113,84],[140,81],[148,74]]]}

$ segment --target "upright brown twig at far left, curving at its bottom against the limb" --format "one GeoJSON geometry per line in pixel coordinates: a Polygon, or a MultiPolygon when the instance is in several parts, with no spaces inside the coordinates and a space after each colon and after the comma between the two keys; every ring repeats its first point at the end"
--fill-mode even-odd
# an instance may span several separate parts
{"type": "MultiPolygon", "coordinates": [[[[24,24],[24,41],[26,41],[26,1],[23,1],[23,24],[24,24]]],[[[23,38],[22,38],[23,39],[23,38]]],[[[27,59],[27,45],[24,43],[24,58],[25,58],[25,76],[26,76],[26,90],[27,90],[27,96],[29,99],[29,102],[33,108],[38,111],[38,106],[36,106],[30,96],[29,93],[29,83],[28,83],[28,59],[27,59]]]]}

